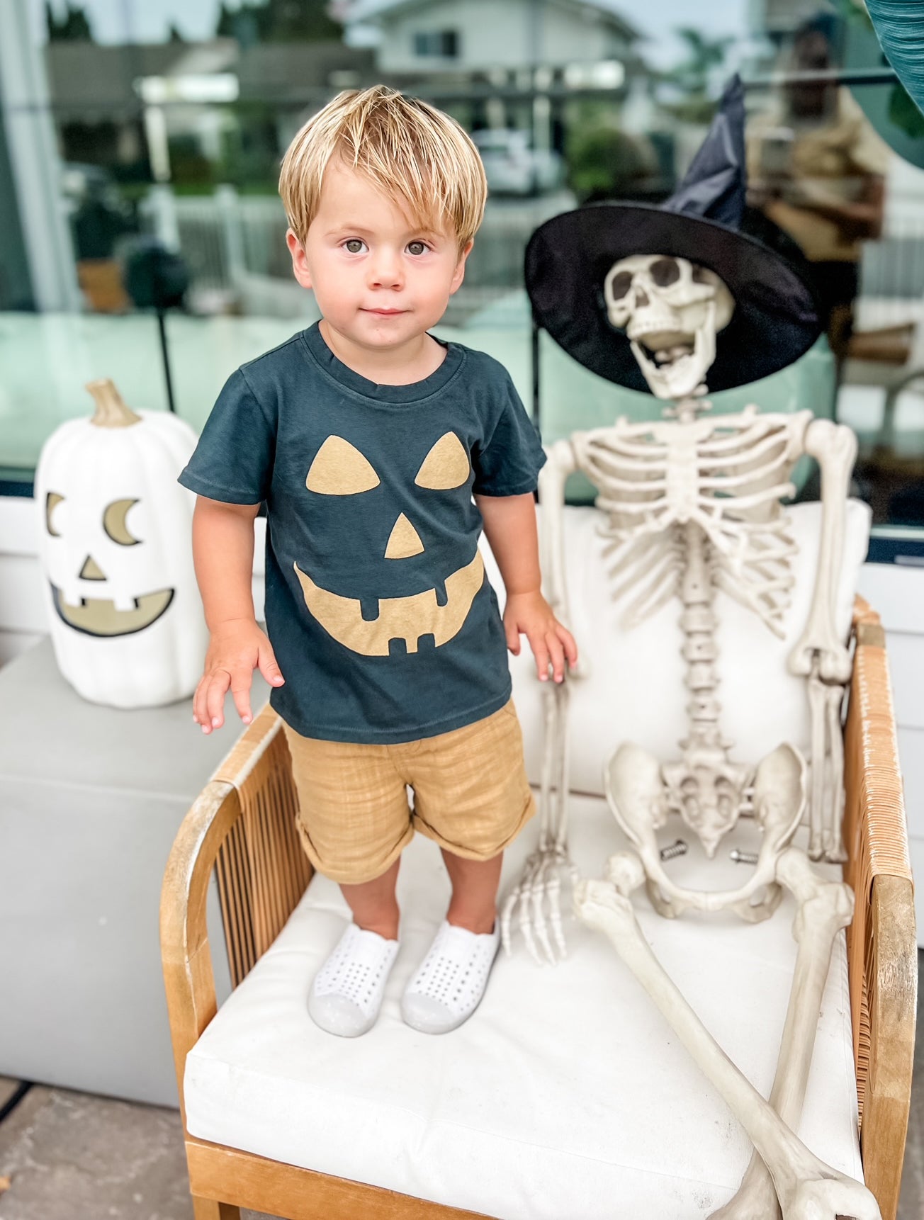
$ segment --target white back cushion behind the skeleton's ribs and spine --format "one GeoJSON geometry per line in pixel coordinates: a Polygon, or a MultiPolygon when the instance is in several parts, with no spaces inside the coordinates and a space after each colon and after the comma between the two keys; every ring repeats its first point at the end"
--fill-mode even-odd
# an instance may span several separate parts
{"type": "MultiPolygon", "coordinates": [[[[719,620],[720,725],[731,738],[735,760],[758,762],[781,742],[808,754],[809,716],[804,678],[786,669],[786,660],[808,617],[814,588],[820,504],[786,510],[798,555],[796,587],[779,639],[751,610],[725,593],[715,594],[719,620]]],[[[657,758],[679,758],[686,737],[685,662],[681,656],[680,603],[676,599],[632,631],[620,626],[626,599],[613,601],[605,520],[593,508],[565,509],[565,581],[572,622],[586,675],[571,687],[571,775],[575,792],[603,794],[603,764],[620,742],[636,742],[657,758]]],[[[837,593],[837,630],[847,639],[859,567],[869,542],[870,511],[859,500],[847,503],[847,531],[837,593]]],[[[503,605],[503,582],[485,548],[491,583],[503,605]]],[[[542,699],[536,664],[526,639],[520,656],[510,658],[514,699],[526,742],[526,769],[538,783],[542,750],[542,699]]]]}

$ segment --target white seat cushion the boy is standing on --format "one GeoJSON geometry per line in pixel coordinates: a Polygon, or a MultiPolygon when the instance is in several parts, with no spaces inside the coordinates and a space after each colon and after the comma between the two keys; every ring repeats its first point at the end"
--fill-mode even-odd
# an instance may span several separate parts
{"type": "MultiPolygon", "coordinates": [[[[574,855],[599,876],[621,836],[604,803],[572,798],[574,855]]],[[[727,848],[668,867],[682,883],[737,884],[727,848]],[[708,872],[706,869],[708,867],[708,872]]],[[[508,853],[509,888],[535,843],[508,853]]],[[[538,967],[516,938],[485,1000],[458,1031],[402,1024],[398,1003],[443,916],[448,882],[417,837],[399,880],[402,949],[375,1028],[323,1033],[308,986],[347,908],[316,877],[272,948],[222,1005],[187,1059],[193,1136],[503,1220],[684,1220],[734,1193],[749,1143],[676,1036],[598,933],[569,916],[570,955],[538,967]]],[[[769,1092],[795,959],[792,904],[765,924],[659,919],[637,898],[654,952],[731,1058],[769,1092]]],[[[843,937],[828,978],[806,1115],[809,1147],[861,1177],[843,937]]]]}

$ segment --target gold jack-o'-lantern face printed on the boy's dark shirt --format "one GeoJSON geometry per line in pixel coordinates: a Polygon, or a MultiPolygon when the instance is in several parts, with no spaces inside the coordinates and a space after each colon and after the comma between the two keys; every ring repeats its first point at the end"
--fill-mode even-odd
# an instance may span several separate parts
{"type": "MultiPolygon", "coordinates": [[[[461,487],[471,473],[469,455],[454,432],[444,432],[424,455],[414,476],[417,488],[441,492],[461,487]]],[[[343,437],[330,436],[317,450],[305,486],[320,495],[363,495],[380,486],[372,462],[343,437]]],[[[426,494],[422,492],[421,494],[426,494]]],[[[399,512],[386,522],[381,558],[393,562],[425,555],[427,542],[409,514],[399,512]]],[[[444,604],[435,587],[399,598],[378,598],[378,615],[363,617],[359,598],[343,597],[321,588],[294,565],[305,605],[325,631],[338,643],[364,656],[388,656],[389,642],[404,640],[408,653],[416,653],[421,637],[432,636],[436,647],[461,628],[475,594],[485,580],[478,551],[466,565],[446,577],[444,604]]]]}

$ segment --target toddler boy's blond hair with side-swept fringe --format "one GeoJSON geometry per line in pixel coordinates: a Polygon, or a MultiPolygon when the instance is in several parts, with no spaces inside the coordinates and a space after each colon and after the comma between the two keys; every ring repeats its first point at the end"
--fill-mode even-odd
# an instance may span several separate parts
{"type": "Polygon", "coordinates": [[[354,167],[415,224],[452,224],[461,250],[485,215],[487,181],[478,150],[442,110],[376,84],[345,89],[305,123],[289,144],[280,194],[299,242],[317,215],[332,157],[354,167]]]}

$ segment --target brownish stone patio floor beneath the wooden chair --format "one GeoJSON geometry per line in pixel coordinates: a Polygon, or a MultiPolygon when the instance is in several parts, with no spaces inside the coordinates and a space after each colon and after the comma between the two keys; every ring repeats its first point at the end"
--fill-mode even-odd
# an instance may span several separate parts
{"type": "MultiPolygon", "coordinates": [[[[898,1220],[924,1216],[924,952],[919,966],[898,1220]]],[[[0,1078],[0,1113],[18,1085],[0,1078]]],[[[0,1220],[193,1220],[176,1110],[33,1085],[0,1121],[4,1177],[10,1187],[0,1194],[0,1220]]],[[[254,1211],[242,1215],[269,1220],[254,1211]]]]}

